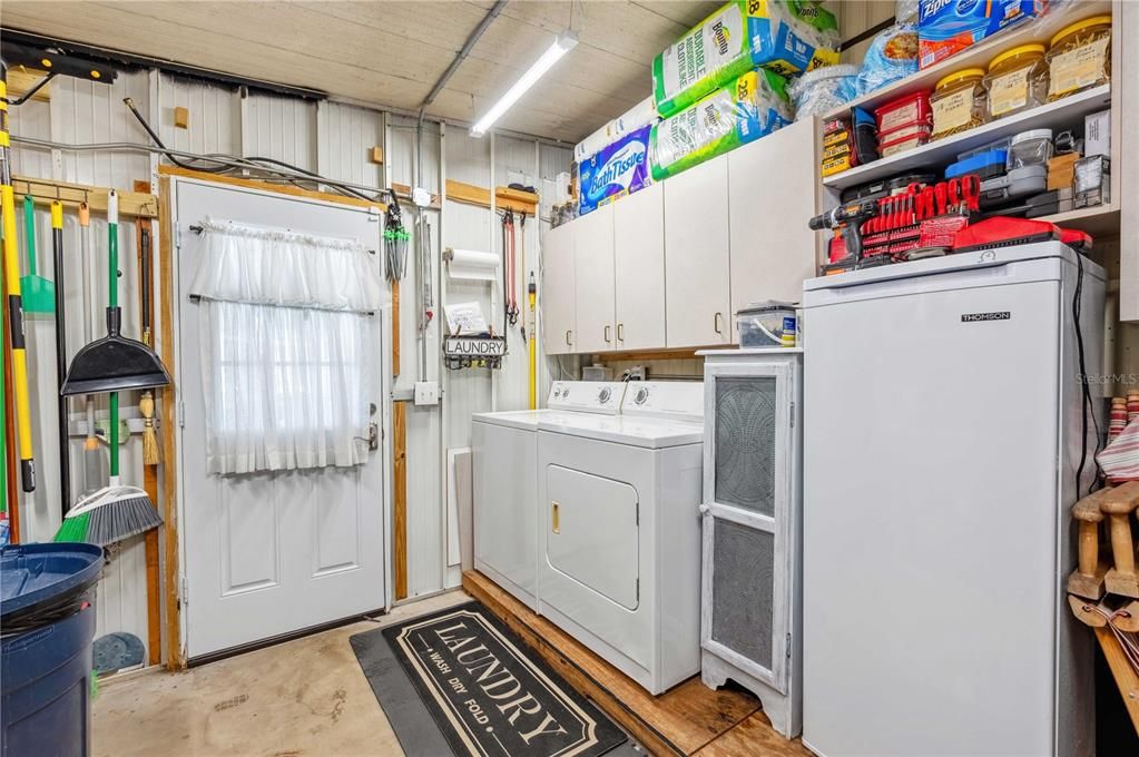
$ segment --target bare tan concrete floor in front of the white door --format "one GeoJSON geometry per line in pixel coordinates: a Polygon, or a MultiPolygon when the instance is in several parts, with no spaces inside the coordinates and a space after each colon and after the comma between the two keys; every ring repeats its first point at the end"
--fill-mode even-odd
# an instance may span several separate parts
{"type": "Polygon", "coordinates": [[[466,601],[451,592],[185,673],[103,682],[95,757],[355,757],[403,750],[349,636],[466,601]]]}

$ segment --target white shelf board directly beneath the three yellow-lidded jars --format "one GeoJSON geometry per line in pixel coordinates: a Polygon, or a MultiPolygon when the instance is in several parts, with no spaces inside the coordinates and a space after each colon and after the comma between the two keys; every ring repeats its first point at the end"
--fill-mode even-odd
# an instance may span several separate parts
{"type": "Polygon", "coordinates": [[[1112,85],[1103,84],[1055,102],[1047,102],[1007,118],[992,121],[976,129],[939,139],[907,153],[880,158],[822,180],[823,186],[845,189],[877,179],[893,176],[915,168],[942,167],[957,159],[958,154],[1011,137],[1029,129],[1072,129],[1083,125],[1083,117],[1112,107],[1112,85]]]}

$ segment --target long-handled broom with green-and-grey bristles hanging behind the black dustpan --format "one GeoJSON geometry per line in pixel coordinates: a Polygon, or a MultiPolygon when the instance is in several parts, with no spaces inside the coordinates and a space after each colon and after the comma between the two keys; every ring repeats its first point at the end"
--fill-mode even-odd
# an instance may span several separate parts
{"type": "MultiPolygon", "coordinates": [[[[108,314],[118,310],[118,195],[107,192],[108,314]]],[[[117,313],[116,313],[117,316],[117,313]]],[[[56,533],[57,542],[89,542],[107,546],[162,525],[147,493],[118,483],[118,393],[110,393],[110,482],[75,503],[56,533]]]]}

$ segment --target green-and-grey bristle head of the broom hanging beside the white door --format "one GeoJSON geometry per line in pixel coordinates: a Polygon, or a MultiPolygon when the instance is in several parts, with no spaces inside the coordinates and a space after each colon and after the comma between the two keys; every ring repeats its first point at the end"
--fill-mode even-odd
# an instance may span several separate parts
{"type": "Polygon", "coordinates": [[[55,541],[107,546],[161,525],[162,518],[146,492],[112,483],[84,497],[67,512],[55,541]]]}

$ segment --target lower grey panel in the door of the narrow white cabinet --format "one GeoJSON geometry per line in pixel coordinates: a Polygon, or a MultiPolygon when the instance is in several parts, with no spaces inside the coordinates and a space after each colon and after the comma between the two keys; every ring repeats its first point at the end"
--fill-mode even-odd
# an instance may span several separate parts
{"type": "Polygon", "coordinates": [[[715,519],[712,640],[765,670],[775,640],[775,535],[715,519]]]}

